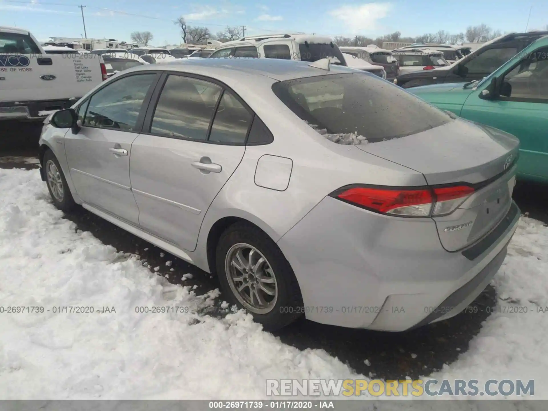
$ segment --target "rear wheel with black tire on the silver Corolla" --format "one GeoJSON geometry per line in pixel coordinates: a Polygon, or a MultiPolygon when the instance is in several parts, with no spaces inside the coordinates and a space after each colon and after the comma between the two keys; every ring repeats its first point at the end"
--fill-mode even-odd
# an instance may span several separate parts
{"type": "Polygon", "coordinates": [[[247,310],[266,330],[283,328],[302,315],[295,274],[282,250],[258,227],[237,222],[226,229],[217,244],[215,262],[224,299],[247,310]],[[264,261],[257,264],[261,258],[264,261]]]}

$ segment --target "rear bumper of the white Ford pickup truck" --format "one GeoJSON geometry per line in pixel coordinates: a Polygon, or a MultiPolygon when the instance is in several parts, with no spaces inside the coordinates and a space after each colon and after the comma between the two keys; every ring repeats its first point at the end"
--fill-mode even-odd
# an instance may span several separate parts
{"type": "Polygon", "coordinates": [[[41,120],[55,110],[68,109],[79,98],[0,102],[0,120],[41,120]]]}

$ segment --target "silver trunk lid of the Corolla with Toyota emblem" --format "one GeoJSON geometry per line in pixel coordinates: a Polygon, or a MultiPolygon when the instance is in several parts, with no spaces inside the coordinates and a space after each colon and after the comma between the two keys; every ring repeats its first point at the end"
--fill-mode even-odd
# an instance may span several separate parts
{"type": "Polygon", "coordinates": [[[519,141],[500,130],[457,119],[425,132],[356,146],[423,173],[429,185],[471,185],[453,213],[436,216],[439,240],[458,251],[487,235],[512,202],[519,141]]]}

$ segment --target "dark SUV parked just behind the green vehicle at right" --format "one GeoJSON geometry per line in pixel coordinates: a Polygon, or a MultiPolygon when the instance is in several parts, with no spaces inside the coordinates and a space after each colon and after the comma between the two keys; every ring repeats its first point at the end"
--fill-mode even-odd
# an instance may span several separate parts
{"type": "Polygon", "coordinates": [[[466,83],[481,80],[495,71],[529,44],[548,35],[548,31],[510,33],[483,43],[464,59],[448,67],[431,71],[400,73],[397,84],[403,88],[438,83],[466,83]]]}

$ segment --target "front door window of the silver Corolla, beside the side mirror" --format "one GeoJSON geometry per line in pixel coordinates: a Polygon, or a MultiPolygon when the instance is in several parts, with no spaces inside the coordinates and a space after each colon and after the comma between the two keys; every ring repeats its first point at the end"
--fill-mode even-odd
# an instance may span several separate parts
{"type": "Polygon", "coordinates": [[[133,131],[155,78],[155,74],[140,74],[106,85],[91,97],[83,125],[133,131]]]}

